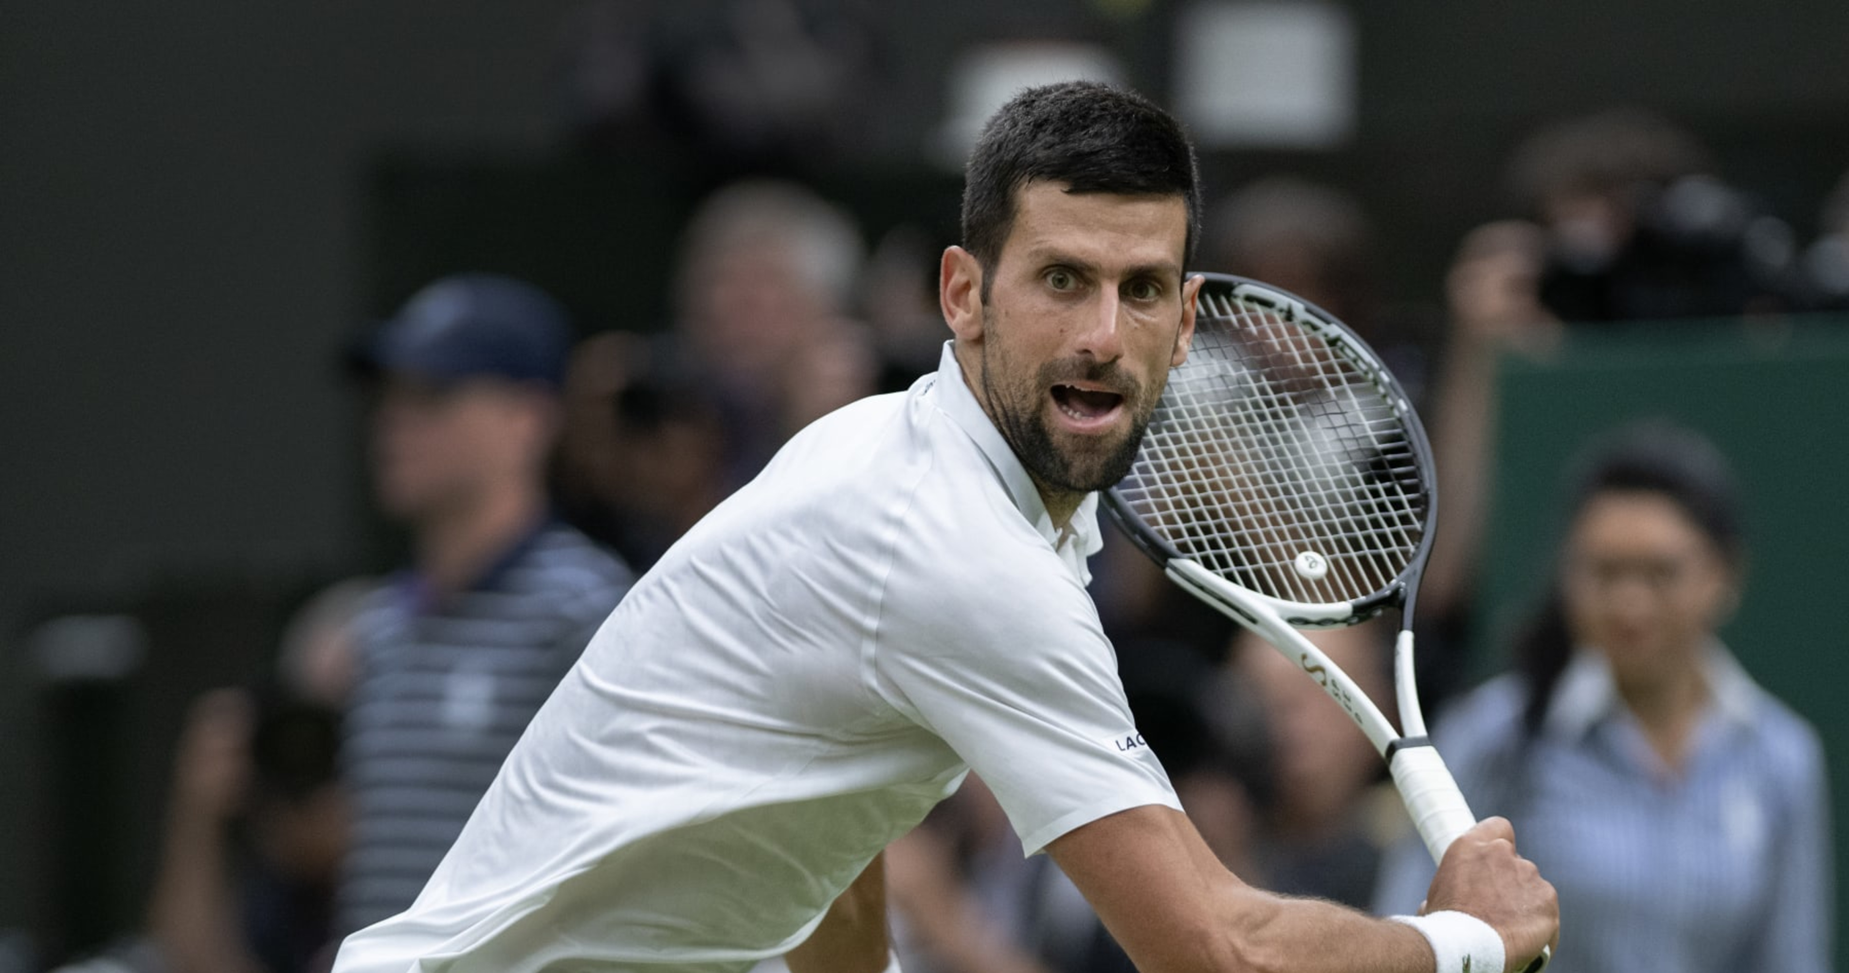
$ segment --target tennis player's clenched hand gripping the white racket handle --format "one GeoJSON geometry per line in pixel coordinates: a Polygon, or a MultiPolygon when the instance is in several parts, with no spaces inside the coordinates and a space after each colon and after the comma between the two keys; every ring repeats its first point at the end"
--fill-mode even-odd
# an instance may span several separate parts
{"type": "Polygon", "coordinates": [[[1463,832],[1426,893],[1426,912],[1468,912],[1503,938],[1509,969],[1524,969],[1561,936],[1561,903],[1535,862],[1516,855],[1514,827],[1485,818],[1463,832]]]}

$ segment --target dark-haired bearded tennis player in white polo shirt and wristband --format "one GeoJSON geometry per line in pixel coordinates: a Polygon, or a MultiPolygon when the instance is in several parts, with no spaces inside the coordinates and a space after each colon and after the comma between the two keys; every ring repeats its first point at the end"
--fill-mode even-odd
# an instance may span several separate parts
{"type": "Polygon", "coordinates": [[[969,770],[1146,971],[1537,955],[1553,890],[1505,821],[1451,847],[1427,916],[1272,895],[1207,851],[1132,725],[1085,555],[1187,355],[1196,200],[1193,148],[1133,94],[1000,109],[943,255],[937,372],[815,422],[669,549],[423,895],[335,969],[897,969],[880,851],[969,770]]]}

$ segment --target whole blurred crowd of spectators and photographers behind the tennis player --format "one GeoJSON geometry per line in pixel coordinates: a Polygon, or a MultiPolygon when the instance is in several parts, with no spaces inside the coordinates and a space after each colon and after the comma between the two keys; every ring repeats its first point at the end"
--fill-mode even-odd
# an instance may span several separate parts
{"type": "MultiPolygon", "coordinates": [[[[791,139],[839,137],[825,131],[839,118],[828,92],[871,57],[862,39],[778,20],[775,4],[740,9],[760,18],[695,43],[632,37],[619,4],[588,7],[573,63],[582,137],[647,129],[740,168],[791,139]],[[627,63],[612,50],[662,44],[697,50],[612,68],[627,63]],[[638,107],[662,100],[679,107],[638,107]],[[664,117],[697,131],[656,131],[664,117]]],[[[1446,520],[1420,597],[1427,708],[1457,701],[1463,723],[1439,734],[1466,794],[1512,816],[1559,884],[1559,969],[1683,966],[1596,953],[1581,929],[1601,923],[1633,938],[1699,929],[1683,949],[1727,969],[1825,969],[1821,753],[1714,634],[1745,597],[1745,538],[1727,462],[1699,437],[1647,427],[1594,444],[1524,668],[1470,694],[1455,673],[1481,634],[1498,363],[1546,359],[1573,329],[1849,309],[1849,178],[1805,240],[1673,122],[1610,109],[1533,133],[1507,183],[1509,216],[1457,246],[1439,327],[1385,298],[1390,228],[1342,187],[1292,174],[1211,205],[1196,270],[1328,309],[1418,400],[1446,520]],[[1742,764],[1769,775],[1764,788],[1716,777],[1742,764]],[[1603,790],[1588,792],[1586,768],[1603,790]],[[1644,801],[1673,823],[1659,858],[1573,853],[1586,834],[1635,849],[1601,816],[1644,801]],[[1745,851],[1712,875],[1679,871],[1701,842],[1745,851]],[[1653,892],[1688,882],[1714,893],[1653,892]]],[[[338,936],[409,905],[631,579],[797,429],[934,368],[949,337],[939,242],[900,229],[869,246],[847,207],[747,176],[686,222],[656,331],[584,335],[531,283],[457,268],[362,335],[346,353],[373,498],[409,560],[307,603],[263,690],[196,701],[144,929],[68,969],[312,971],[338,936]]],[[[1254,884],[1414,910],[1429,862],[1342,710],[1128,544],[1113,538],[1095,575],[1139,725],[1209,847],[1254,884]]],[[[1313,640],[1389,701],[1392,622],[1313,640]]],[[[908,971],[1130,969],[1050,860],[1021,855],[978,779],[891,849],[888,875],[908,971]]]]}

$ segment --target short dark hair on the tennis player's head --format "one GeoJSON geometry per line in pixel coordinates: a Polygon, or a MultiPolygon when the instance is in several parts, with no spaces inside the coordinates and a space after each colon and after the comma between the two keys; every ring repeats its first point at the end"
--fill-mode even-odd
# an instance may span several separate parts
{"type": "MultiPolygon", "coordinates": [[[[963,248],[993,270],[1015,224],[1015,191],[1034,179],[1071,192],[1182,196],[1183,259],[1200,239],[1200,172],[1182,124],[1141,94],[1061,81],[1015,94],[982,128],[963,170],[963,248]]],[[[984,279],[987,287],[987,279],[984,279]]]]}

